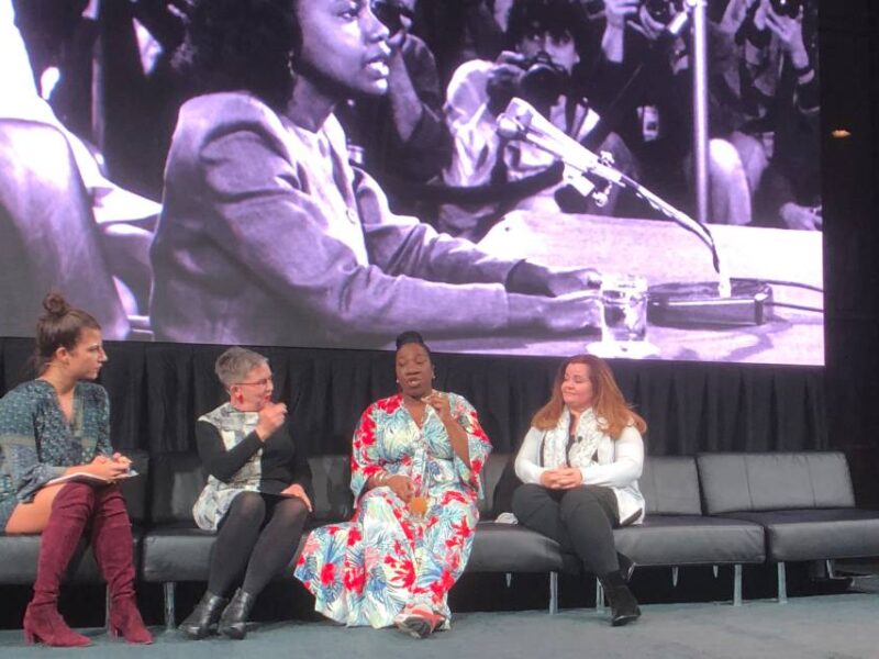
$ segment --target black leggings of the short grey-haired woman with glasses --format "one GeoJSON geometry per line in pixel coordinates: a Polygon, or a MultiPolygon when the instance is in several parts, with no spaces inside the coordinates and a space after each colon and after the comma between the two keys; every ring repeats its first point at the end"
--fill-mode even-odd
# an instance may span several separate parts
{"type": "Polygon", "coordinates": [[[242,590],[258,595],[292,560],[308,509],[301,499],[241,492],[220,523],[208,590],[226,597],[244,574],[242,590]]]}

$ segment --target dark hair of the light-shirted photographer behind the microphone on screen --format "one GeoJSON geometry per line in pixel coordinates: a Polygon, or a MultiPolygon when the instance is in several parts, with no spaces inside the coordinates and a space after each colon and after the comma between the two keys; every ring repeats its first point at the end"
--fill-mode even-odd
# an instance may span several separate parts
{"type": "Polygon", "coordinates": [[[555,37],[570,34],[577,53],[586,53],[587,18],[577,0],[514,0],[507,18],[508,47],[534,33],[548,32],[555,37]]]}

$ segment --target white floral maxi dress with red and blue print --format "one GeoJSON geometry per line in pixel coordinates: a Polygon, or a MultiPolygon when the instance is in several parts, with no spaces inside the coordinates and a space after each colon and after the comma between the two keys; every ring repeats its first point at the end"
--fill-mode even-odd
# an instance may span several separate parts
{"type": "Polygon", "coordinates": [[[446,596],[464,571],[479,520],[479,473],[491,445],[476,411],[449,393],[453,417],[467,433],[470,463],[455,455],[445,426],[427,405],[419,427],[402,394],[377,401],[354,433],[351,522],[315,528],[296,576],[315,597],[315,611],[348,626],[386,627],[407,604],[445,616],[446,596]],[[364,492],[379,470],[409,476],[426,495],[422,517],[388,487],[364,492]]]}

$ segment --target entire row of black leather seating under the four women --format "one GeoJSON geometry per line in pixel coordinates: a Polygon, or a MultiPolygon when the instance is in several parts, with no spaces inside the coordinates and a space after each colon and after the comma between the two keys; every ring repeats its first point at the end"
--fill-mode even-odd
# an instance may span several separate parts
{"type": "MultiPolygon", "coordinates": [[[[516,525],[489,521],[511,456],[492,455],[483,471],[486,499],[467,570],[539,572],[549,578],[549,611],[557,610],[558,573],[576,572],[577,561],[554,541],[516,525]]],[[[348,456],[310,459],[314,479],[312,525],[349,518],[353,501],[348,456]]],[[[145,582],[160,583],[165,622],[176,623],[175,589],[180,581],[207,581],[214,534],[198,529],[191,509],[204,484],[194,454],[165,454],[145,476],[125,483],[135,526],[135,565],[145,582]]],[[[647,517],[614,532],[617,548],[643,567],[730,566],[733,603],[742,601],[742,566],[779,565],[779,599],[785,600],[783,565],[879,555],[879,513],[854,506],[845,457],[816,454],[706,454],[649,457],[639,480],[647,517]]],[[[38,537],[0,534],[0,585],[26,584],[35,576],[38,537]]],[[[292,570],[280,579],[292,580],[292,570]]],[[[70,582],[100,582],[85,549],[68,570],[70,582]]],[[[603,601],[597,583],[597,602],[603,601]]]]}

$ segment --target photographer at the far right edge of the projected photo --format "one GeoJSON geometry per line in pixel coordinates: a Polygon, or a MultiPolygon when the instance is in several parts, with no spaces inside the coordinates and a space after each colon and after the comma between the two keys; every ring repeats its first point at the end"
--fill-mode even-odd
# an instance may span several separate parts
{"type": "Polygon", "coordinates": [[[817,4],[730,0],[721,25],[738,66],[724,75],[736,101],[736,147],[754,196],[755,222],[819,230],[821,215],[817,4]]]}

